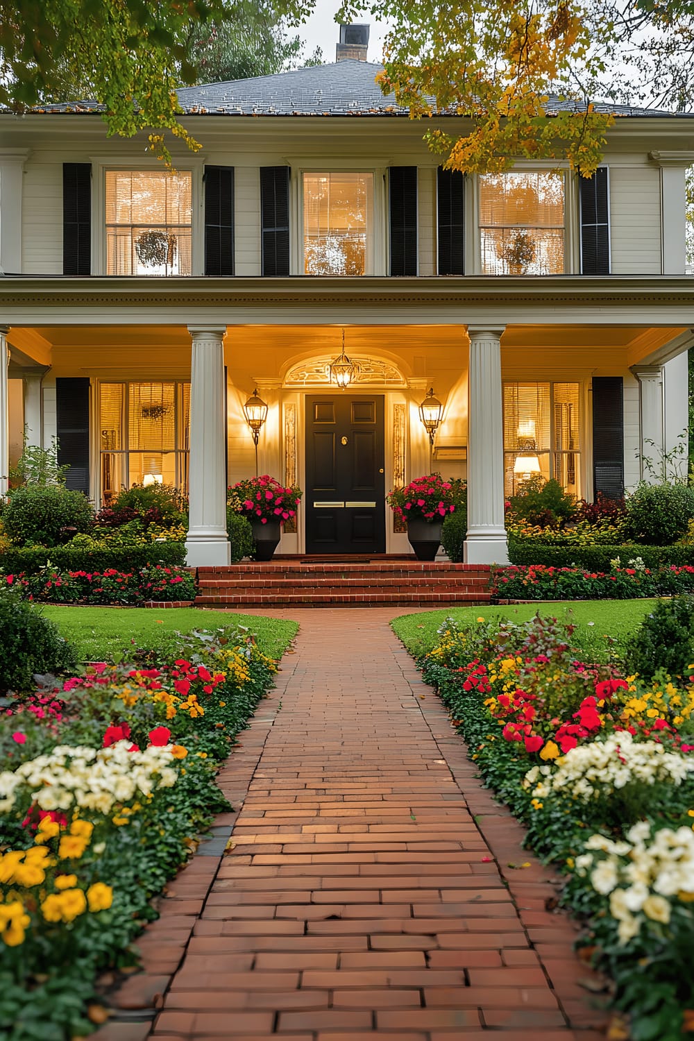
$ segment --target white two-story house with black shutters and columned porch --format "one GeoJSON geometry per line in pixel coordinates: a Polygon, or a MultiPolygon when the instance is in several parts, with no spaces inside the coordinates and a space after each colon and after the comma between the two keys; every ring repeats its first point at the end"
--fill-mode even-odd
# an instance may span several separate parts
{"type": "Polygon", "coordinates": [[[257,388],[259,472],[305,490],[283,553],[407,552],[384,497],[433,466],[467,478],[467,560],[500,562],[529,473],[617,497],[677,443],[694,119],[622,108],[591,180],[543,162],[463,177],[379,69],[181,90],[202,150],[175,173],[107,137],[95,104],[0,112],[0,475],[24,427],[57,435],[98,505],[185,488],[188,561],[225,563],[257,388]]]}

